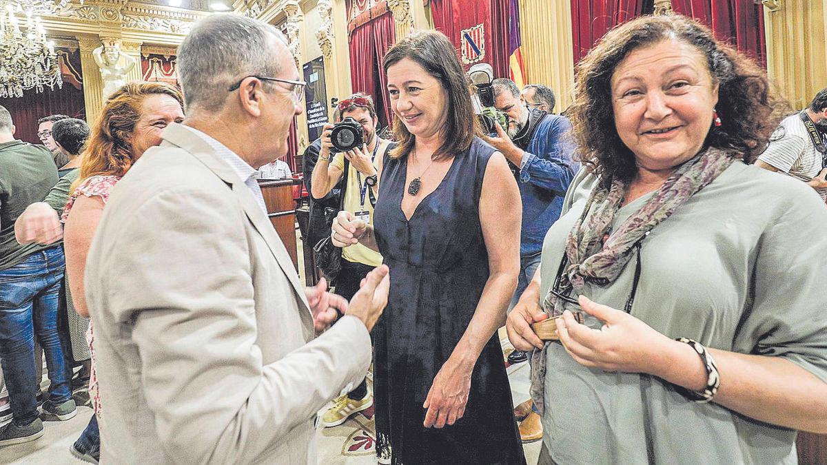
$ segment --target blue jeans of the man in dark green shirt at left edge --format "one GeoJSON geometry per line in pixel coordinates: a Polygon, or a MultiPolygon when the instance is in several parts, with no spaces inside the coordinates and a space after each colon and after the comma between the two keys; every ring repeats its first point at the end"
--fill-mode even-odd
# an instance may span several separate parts
{"type": "Polygon", "coordinates": [[[49,370],[49,400],[61,404],[72,398],[71,376],[57,329],[64,269],[63,247],[55,246],[0,271],[0,364],[18,425],[30,424],[38,416],[35,337],[49,370]]]}

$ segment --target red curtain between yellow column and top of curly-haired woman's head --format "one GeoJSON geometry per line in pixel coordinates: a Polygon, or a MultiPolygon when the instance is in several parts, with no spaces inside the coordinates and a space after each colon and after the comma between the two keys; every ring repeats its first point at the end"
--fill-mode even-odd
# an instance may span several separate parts
{"type": "Polygon", "coordinates": [[[575,64],[609,29],[639,17],[643,13],[643,3],[643,0],[571,0],[575,64]]]}

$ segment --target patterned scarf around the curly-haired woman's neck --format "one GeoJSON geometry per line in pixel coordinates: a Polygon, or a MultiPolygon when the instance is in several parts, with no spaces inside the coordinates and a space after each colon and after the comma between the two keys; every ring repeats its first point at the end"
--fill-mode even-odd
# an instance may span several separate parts
{"type": "MultiPolygon", "coordinates": [[[[560,289],[571,290],[570,295],[576,296],[583,293],[586,281],[599,285],[613,282],[632,258],[635,244],[693,194],[714,181],[734,160],[731,154],[710,148],[687,161],[616,231],[611,231],[611,225],[623,204],[627,186],[614,181],[608,190],[595,187],[566,240],[568,264],[562,271],[560,289]],[[604,242],[605,237],[608,238],[604,242]]],[[[560,315],[566,309],[579,311],[575,304],[558,299],[551,292],[543,299],[543,309],[551,316],[560,315]]],[[[543,349],[534,349],[531,355],[531,397],[541,414],[545,410],[547,348],[548,343],[543,349]]]]}

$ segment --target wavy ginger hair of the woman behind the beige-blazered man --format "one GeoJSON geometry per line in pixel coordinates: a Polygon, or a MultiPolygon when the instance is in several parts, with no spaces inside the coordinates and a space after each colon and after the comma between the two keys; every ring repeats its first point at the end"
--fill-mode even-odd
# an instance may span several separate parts
{"type": "Polygon", "coordinates": [[[92,176],[127,174],[135,161],[130,139],[141,117],[141,105],[146,97],[157,94],[169,95],[184,108],[183,94],[170,84],[130,83],[112,93],[91,128],[80,175],[71,190],[92,176]]]}

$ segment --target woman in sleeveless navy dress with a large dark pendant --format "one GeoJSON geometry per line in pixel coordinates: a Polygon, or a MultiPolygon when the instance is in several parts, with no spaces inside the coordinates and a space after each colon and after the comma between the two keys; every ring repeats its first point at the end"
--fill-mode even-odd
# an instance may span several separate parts
{"type": "Polygon", "coordinates": [[[390,267],[374,330],[377,456],[524,464],[495,337],[519,273],[519,190],[504,156],[475,136],[447,37],[415,33],[384,66],[399,146],[380,167],[374,226],[342,212],[332,232],[390,267]]]}

